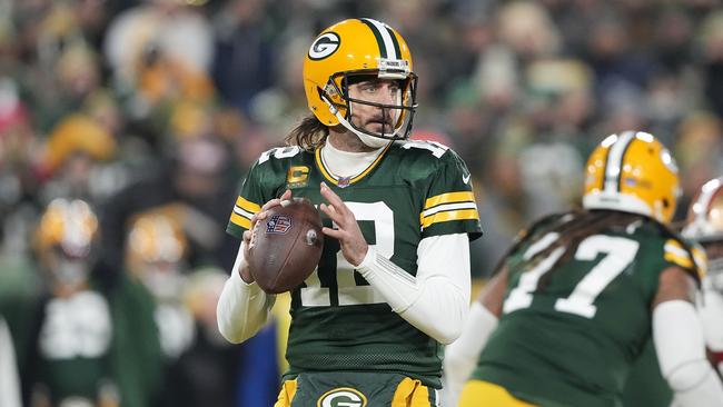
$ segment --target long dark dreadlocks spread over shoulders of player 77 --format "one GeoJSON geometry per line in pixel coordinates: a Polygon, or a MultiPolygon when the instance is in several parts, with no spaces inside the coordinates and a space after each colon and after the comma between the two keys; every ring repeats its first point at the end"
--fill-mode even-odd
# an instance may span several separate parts
{"type": "MultiPolygon", "coordinates": [[[[625,228],[635,222],[640,222],[641,225],[646,222],[655,225],[662,231],[663,236],[679,240],[685,250],[691,254],[692,248],[690,245],[680,240],[672,229],[646,216],[617,210],[575,209],[565,214],[551,215],[534,222],[529,229],[521,234],[513,246],[507,250],[505,256],[497,264],[495,272],[499,271],[507,262],[507,258],[512,254],[518,251],[523,245],[535,244],[548,232],[557,232],[559,237],[528,260],[528,265],[526,266],[528,270],[537,266],[539,261],[547,258],[557,248],[563,247],[565,252],[553,264],[552,270],[554,271],[555,267],[561,261],[566,261],[574,255],[574,250],[570,249],[577,247],[580,242],[588,236],[601,234],[606,230],[625,230],[625,228]]],[[[552,271],[546,272],[539,280],[539,287],[544,287],[551,276],[552,271]]]]}

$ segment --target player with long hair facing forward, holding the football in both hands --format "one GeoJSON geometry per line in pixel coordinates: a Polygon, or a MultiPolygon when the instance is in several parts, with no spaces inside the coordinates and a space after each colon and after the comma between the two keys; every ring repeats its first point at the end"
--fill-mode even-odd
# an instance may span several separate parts
{"type": "Polygon", "coordinates": [[[373,19],[324,30],[304,66],[313,116],[251,167],[228,224],[242,239],[217,309],[231,343],[265,324],[274,296],[251,277],[249,229],[305,197],[324,251],[291,291],[289,370],[277,406],[436,406],[443,345],[469,301],[469,239],[482,232],[471,175],[443,145],[408,141],[409,49],[373,19]]]}

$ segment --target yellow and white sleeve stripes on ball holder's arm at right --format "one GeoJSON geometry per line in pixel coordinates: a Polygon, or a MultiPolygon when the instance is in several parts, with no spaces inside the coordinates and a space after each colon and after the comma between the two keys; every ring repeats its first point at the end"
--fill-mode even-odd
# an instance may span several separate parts
{"type": "Polygon", "coordinates": [[[478,232],[479,214],[472,191],[445,192],[427,198],[419,215],[422,230],[432,229],[443,224],[448,232],[478,232]],[[465,221],[471,221],[465,226],[465,221]],[[457,230],[454,230],[457,229],[457,230]]]}

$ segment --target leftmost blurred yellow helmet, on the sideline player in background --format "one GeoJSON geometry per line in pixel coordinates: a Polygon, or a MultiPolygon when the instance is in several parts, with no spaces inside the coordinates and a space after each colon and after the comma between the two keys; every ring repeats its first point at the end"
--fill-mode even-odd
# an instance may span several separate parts
{"type": "Polygon", "coordinates": [[[41,252],[58,248],[66,256],[85,258],[98,237],[98,218],[83,200],[52,200],[36,229],[36,248],[41,252]]]}

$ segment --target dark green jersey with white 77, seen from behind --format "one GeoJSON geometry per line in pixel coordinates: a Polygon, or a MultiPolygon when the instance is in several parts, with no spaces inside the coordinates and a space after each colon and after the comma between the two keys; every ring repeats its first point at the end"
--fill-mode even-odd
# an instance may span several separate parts
{"type": "Polygon", "coordinates": [[[671,266],[695,276],[693,256],[641,218],[531,265],[568,218],[541,221],[508,257],[503,316],[472,378],[541,406],[621,406],[630,367],[651,337],[658,276],[671,266]]]}

